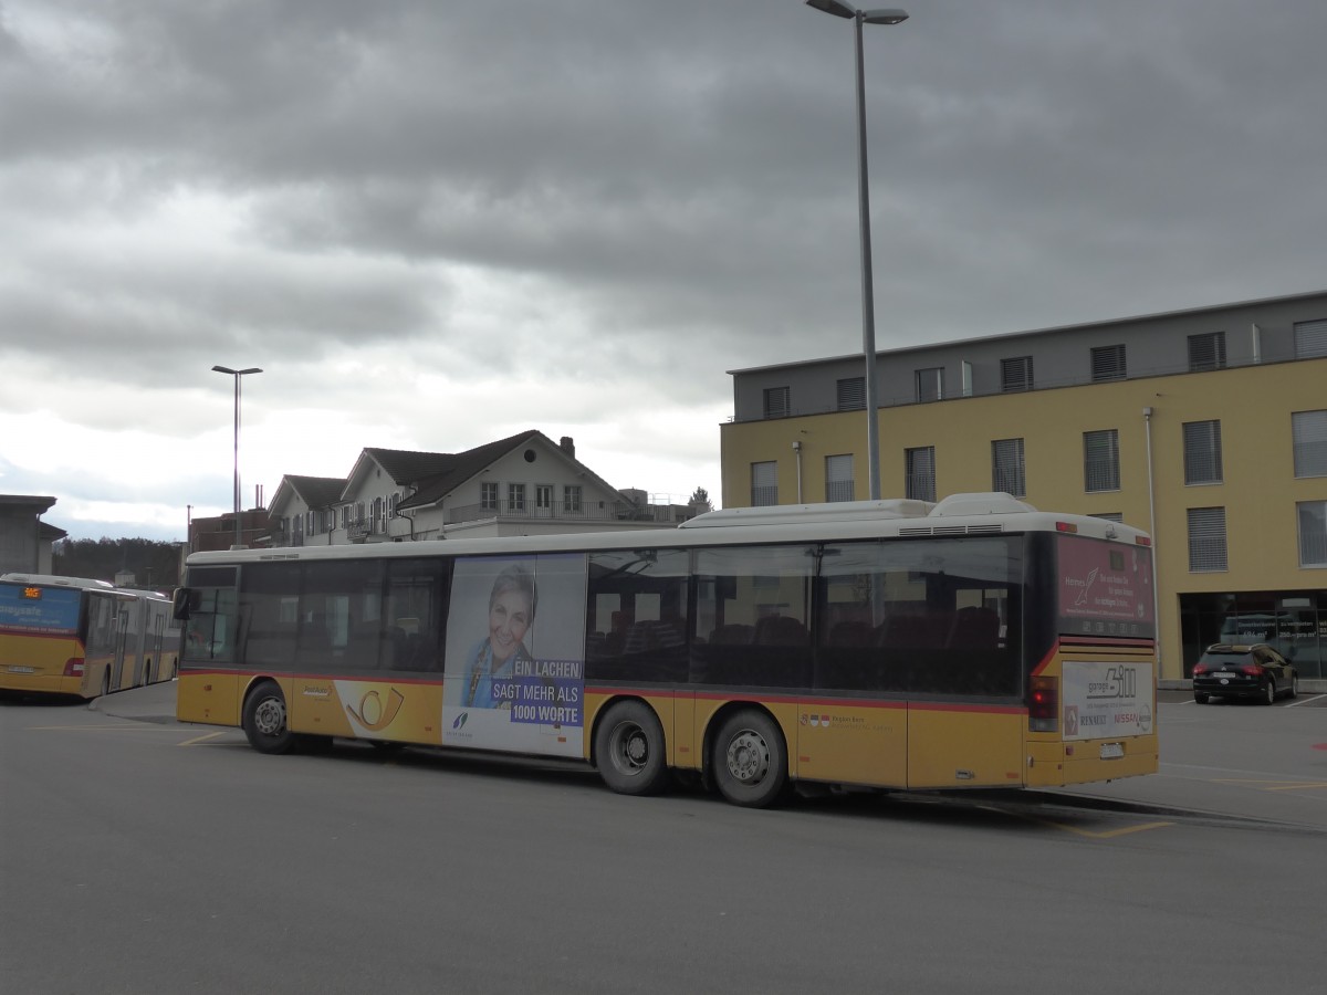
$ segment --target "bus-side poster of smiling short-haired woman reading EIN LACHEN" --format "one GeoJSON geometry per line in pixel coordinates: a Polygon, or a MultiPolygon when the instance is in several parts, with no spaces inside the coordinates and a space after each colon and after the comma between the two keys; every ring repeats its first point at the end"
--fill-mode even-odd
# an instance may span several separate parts
{"type": "Polygon", "coordinates": [[[581,756],[584,691],[585,556],[456,560],[442,742],[581,756]]]}

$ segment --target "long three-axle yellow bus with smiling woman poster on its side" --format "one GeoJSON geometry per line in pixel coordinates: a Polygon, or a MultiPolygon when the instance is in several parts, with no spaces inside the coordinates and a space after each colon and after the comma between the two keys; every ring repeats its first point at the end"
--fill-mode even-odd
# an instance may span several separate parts
{"type": "Polygon", "coordinates": [[[1157,769],[1152,549],[1003,494],[678,528],[194,553],[180,720],[571,758],[609,788],[1157,769]]]}

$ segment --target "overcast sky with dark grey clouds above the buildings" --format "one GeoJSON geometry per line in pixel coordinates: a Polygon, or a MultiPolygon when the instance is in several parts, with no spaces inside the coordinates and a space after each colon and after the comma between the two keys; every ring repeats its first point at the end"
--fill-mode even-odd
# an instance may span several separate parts
{"type": "MultiPolygon", "coordinates": [[[[1327,3],[865,27],[877,344],[1327,284],[1327,3]]],[[[360,450],[721,499],[726,370],[861,346],[853,31],[800,0],[0,0],[0,492],[183,539],[360,450]]]]}

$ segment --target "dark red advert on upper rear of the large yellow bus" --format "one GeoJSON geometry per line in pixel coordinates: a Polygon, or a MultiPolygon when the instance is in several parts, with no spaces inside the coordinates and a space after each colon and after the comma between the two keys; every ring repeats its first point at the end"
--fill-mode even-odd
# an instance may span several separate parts
{"type": "Polygon", "coordinates": [[[1152,549],[1056,537],[1060,631],[1151,638],[1152,549]]]}

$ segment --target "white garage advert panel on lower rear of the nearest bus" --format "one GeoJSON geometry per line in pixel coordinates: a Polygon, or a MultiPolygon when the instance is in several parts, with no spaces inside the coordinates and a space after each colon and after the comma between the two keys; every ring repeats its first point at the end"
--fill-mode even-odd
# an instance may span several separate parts
{"type": "Polygon", "coordinates": [[[1064,739],[1145,736],[1153,722],[1151,662],[1064,661],[1064,739]]]}

